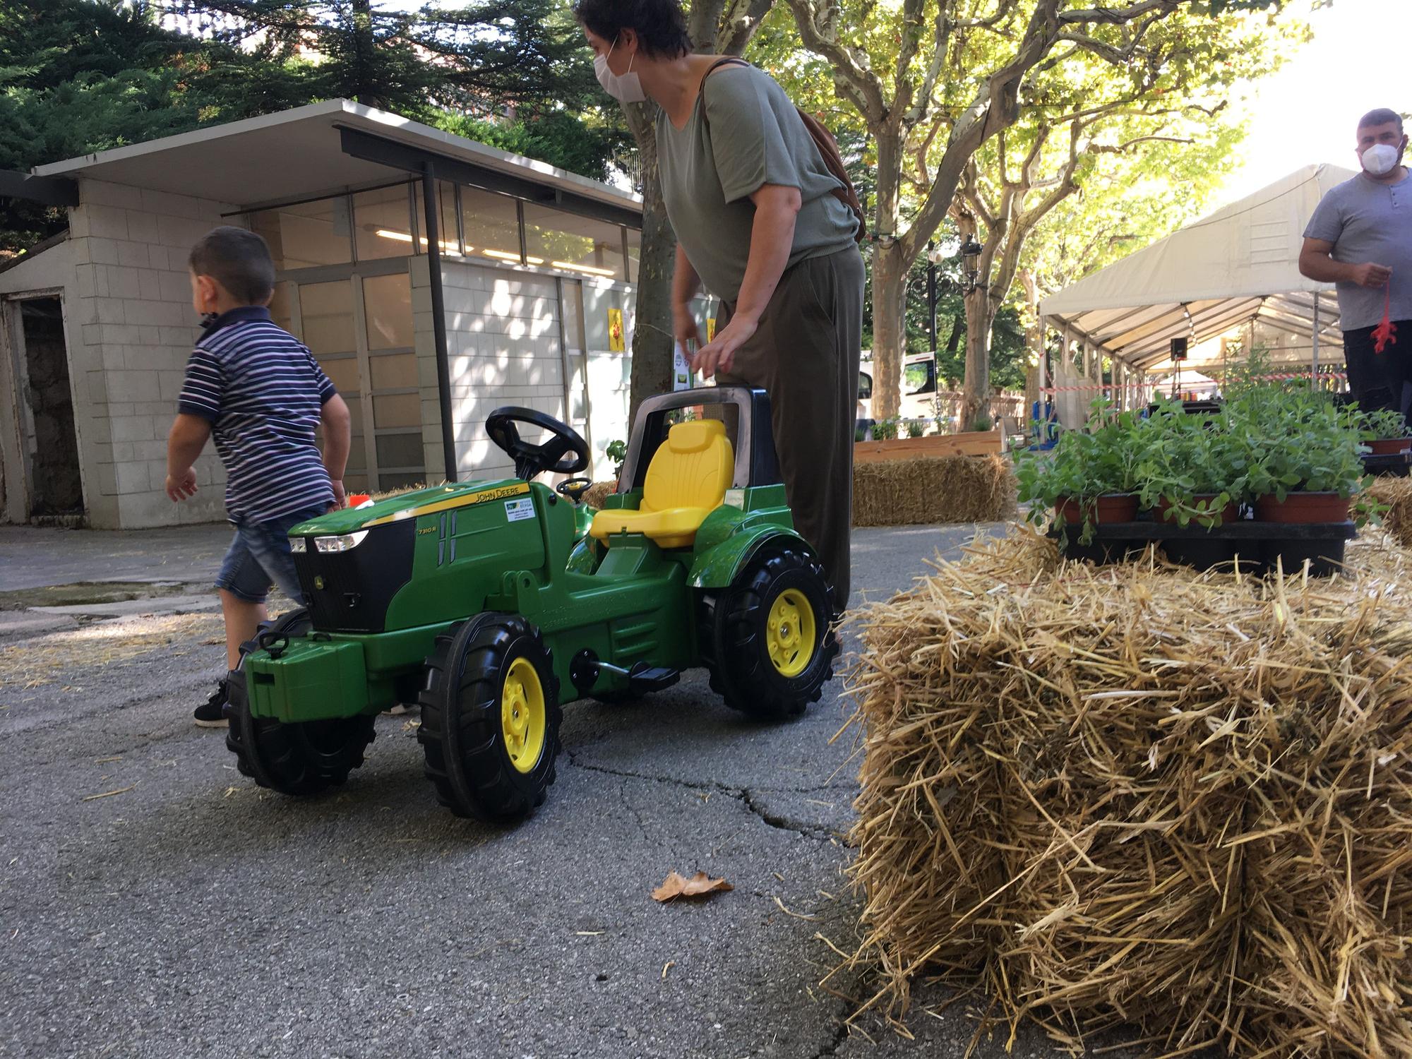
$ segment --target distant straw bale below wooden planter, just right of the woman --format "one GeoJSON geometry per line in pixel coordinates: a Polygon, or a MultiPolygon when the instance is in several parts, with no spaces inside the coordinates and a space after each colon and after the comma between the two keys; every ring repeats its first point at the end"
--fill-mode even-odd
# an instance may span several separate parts
{"type": "Polygon", "coordinates": [[[1000,522],[1015,514],[1004,456],[919,456],[853,465],[853,525],[1000,522]]]}

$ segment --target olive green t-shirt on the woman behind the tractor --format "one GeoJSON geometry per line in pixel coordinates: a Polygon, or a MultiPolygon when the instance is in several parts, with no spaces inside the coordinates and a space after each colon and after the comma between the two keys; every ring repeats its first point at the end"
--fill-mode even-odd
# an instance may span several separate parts
{"type": "Polygon", "coordinates": [[[750,196],[765,184],[799,189],[791,265],[854,244],[857,220],[833,193],[839,181],[794,103],[764,71],[717,69],[685,128],[658,113],[657,154],[666,216],[686,260],[706,289],[727,302],[737,301],[746,278],[755,220],[750,196]]]}

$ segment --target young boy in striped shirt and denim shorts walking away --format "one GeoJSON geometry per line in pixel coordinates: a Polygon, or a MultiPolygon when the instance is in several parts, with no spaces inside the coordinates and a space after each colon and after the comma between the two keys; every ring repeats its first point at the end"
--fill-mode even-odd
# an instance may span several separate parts
{"type": "MultiPolygon", "coordinates": [[[[192,308],[206,319],[167,438],[167,496],[196,493],[192,465],[215,435],[226,466],[226,514],[236,537],[216,578],[226,620],[226,668],[265,620],[271,582],[301,597],[288,532],[343,507],[349,409],[309,350],[270,319],[274,261],[240,227],[212,229],[192,247],[192,308]],[[323,425],[323,456],[313,431],[323,425]]],[[[202,727],[225,727],[226,681],[196,707],[202,727]]]]}

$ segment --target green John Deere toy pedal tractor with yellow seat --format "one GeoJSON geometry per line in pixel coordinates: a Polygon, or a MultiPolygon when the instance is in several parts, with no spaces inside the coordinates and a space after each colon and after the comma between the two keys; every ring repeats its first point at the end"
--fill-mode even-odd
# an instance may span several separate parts
{"type": "Polygon", "coordinates": [[[230,678],[226,746],[289,795],[342,784],[373,722],[422,710],[441,802],[515,820],[554,782],[562,706],[659,690],[706,666],[727,705],[799,716],[833,676],[833,593],[794,530],[761,390],[644,401],[597,514],[589,449],[542,412],[500,408],[486,431],[517,479],[438,486],[289,531],[305,607],[261,628],[230,678]],[[722,419],[683,409],[734,408],[722,419]],[[520,426],[546,432],[534,443],[520,426]]]}

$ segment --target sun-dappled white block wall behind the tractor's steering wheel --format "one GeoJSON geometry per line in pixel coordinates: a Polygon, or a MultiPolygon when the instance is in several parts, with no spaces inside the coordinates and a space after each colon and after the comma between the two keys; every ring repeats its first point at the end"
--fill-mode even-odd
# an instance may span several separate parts
{"type": "MultiPolygon", "coordinates": [[[[431,271],[412,258],[412,321],[422,394],[422,442],[428,480],[445,467],[431,271]]],[[[514,466],[486,436],[486,417],[515,404],[565,415],[559,295],[554,277],[460,261],[442,263],[446,353],[456,415],[456,459],[462,480],[511,477],[514,466]]]]}

